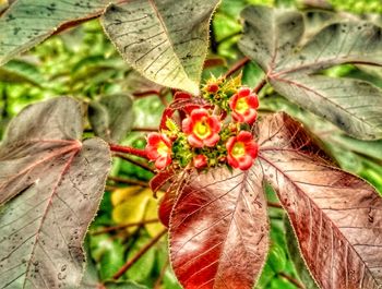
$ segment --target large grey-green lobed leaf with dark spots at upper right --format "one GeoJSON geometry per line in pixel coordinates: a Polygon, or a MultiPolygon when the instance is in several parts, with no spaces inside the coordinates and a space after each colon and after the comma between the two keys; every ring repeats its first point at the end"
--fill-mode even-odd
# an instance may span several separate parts
{"type": "Polygon", "coordinates": [[[368,22],[332,23],[303,44],[305,25],[298,12],[249,7],[242,17],[239,47],[262,67],[279,94],[356,137],[382,137],[381,89],[363,81],[313,75],[343,63],[381,67],[381,27],[368,22]]]}

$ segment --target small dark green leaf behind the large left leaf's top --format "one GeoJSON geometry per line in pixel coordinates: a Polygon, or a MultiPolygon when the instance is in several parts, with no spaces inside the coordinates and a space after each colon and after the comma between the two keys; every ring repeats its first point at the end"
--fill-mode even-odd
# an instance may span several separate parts
{"type": "Polygon", "coordinates": [[[131,130],[134,121],[130,95],[107,95],[88,107],[88,118],[96,135],[118,143],[131,130]]]}

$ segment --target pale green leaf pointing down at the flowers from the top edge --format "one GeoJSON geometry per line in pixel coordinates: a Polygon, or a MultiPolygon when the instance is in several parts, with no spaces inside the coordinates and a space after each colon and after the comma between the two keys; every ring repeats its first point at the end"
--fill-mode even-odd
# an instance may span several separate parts
{"type": "Polygon", "coordinates": [[[124,60],[148,80],[199,93],[208,24],[219,0],[133,0],[111,4],[106,34],[124,60]]]}

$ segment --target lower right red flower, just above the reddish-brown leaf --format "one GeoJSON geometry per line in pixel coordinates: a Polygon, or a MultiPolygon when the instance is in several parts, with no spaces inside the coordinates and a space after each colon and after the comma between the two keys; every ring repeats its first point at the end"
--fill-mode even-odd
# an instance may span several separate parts
{"type": "Polygon", "coordinates": [[[228,164],[232,168],[248,170],[258,156],[259,146],[253,141],[252,134],[241,131],[237,136],[231,136],[226,147],[228,150],[228,164]]]}

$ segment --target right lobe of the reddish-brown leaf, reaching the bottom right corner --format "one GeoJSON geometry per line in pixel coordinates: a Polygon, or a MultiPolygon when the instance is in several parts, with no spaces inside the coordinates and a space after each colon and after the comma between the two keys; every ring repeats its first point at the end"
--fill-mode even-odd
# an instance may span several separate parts
{"type": "Polygon", "coordinates": [[[301,124],[283,113],[259,125],[260,164],[277,191],[321,288],[380,288],[382,200],[335,168],[301,124]]]}

